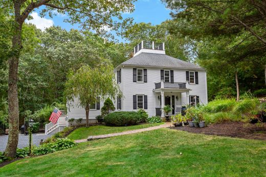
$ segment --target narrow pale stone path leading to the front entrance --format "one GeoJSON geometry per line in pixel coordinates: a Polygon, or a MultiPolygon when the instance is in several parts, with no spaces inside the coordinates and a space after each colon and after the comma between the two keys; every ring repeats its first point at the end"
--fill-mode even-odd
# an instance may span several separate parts
{"type": "Polygon", "coordinates": [[[118,132],[118,133],[114,133],[114,134],[105,134],[105,135],[90,136],[87,139],[75,140],[75,142],[76,143],[82,143],[82,142],[86,142],[86,141],[104,139],[104,138],[109,138],[109,137],[116,137],[116,136],[120,136],[120,135],[136,134],[138,132],[150,131],[150,130],[160,129],[160,128],[166,128],[166,127],[170,127],[170,126],[171,126],[171,122],[166,122],[165,124],[158,125],[158,126],[152,126],[152,127],[148,127],[148,128],[142,128],[142,129],[136,129],[136,130],[123,131],[123,132],[118,132]]]}

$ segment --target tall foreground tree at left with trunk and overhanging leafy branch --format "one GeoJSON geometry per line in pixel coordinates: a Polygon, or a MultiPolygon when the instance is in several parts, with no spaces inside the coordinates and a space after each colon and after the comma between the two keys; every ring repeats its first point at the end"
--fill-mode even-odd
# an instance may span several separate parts
{"type": "Polygon", "coordinates": [[[30,13],[35,9],[45,6],[40,12],[41,16],[46,13],[52,17],[57,10],[59,13],[68,13],[68,18],[65,21],[69,23],[80,23],[83,29],[92,29],[97,33],[106,32],[105,28],[112,28],[118,30],[126,24],[126,20],[122,22],[114,21],[113,17],[122,19],[122,12],[131,12],[134,6],[134,0],[121,1],[77,1],[77,0],[4,0],[0,2],[0,7],[8,9],[8,14],[13,14],[14,30],[12,37],[12,48],[9,57],[9,76],[8,76],[8,117],[9,117],[9,138],[6,156],[15,157],[18,143],[18,94],[17,94],[17,80],[18,80],[18,63],[19,56],[23,45],[21,43],[21,32],[25,20],[30,13]],[[106,13],[108,12],[108,13],[106,13]]]}

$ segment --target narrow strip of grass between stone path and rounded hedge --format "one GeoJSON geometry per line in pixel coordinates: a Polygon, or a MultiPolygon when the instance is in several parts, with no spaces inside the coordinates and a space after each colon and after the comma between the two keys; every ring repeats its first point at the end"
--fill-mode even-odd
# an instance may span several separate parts
{"type": "Polygon", "coordinates": [[[151,126],[157,126],[161,125],[161,123],[149,123],[149,124],[141,124],[141,125],[133,125],[133,126],[121,126],[121,127],[115,127],[115,126],[105,126],[105,125],[96,125],[96,126],[90,126],[90,127],[81,127],[71,132],[71,134],[68,136],[68,138],[73,140],[81,140],[86,139],[88,136],[92,135],[104,135],[104,134],[113,134],[116,132],[122,132],[127,130],[134,130],[134,129],[141,129],[141,128],[147,128],[151,126]]]}

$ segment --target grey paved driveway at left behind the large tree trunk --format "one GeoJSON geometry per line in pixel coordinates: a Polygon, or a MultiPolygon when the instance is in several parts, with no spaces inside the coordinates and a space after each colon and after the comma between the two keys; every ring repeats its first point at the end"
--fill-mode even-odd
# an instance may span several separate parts
{"type": "MultiPolygon", "coordinates": [[[[46,140],[52,135],[45,134],[32,134],[32,144],[39,146],[40,140],[46,140]]],[[[0,136],[0,151],[4,151],[7,146],[8,135],[0,136]]],[[[18,136],[18,148],[23,148],[29,146],[29,136],[25,136],[24,134],[19,134],[18,136]]]]}

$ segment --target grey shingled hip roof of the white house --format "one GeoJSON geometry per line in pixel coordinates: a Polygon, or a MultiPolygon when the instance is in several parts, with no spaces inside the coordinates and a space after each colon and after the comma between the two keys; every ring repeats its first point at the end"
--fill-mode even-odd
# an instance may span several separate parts
{"type": "Polygon", "coordinates": [[[121,63],[121,65],[143,65],[150,67],[162,67],[162,68],[184,68],[184,69],[200,69],[204,68],[181,60],[165,54],[155,54],[155,53],[140,53],[129,60],[121,63]]]}

